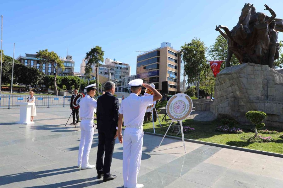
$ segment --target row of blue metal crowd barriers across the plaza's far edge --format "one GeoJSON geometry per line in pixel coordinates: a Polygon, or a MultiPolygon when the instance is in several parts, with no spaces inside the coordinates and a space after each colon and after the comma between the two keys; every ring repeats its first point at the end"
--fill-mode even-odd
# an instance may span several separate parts
{"type": "MultiPolygon", "coordinates": [[[[7,107],[19,107],[16,102],[26,102],[29,95],[7,95],[0,94],[0,108],[7,107]]],[[[71,102],[71,96],[54,96],[54,95],[35,95],[35,105],[36,106],[62,106],[69,107],[71,102]]],[[[121,104],[122,97],[118,97],[119,105],[121,104]]]]}

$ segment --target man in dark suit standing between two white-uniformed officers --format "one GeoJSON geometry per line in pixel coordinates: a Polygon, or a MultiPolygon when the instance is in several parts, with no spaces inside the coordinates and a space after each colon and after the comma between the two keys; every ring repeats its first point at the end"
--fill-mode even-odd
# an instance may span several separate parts
{"type": "Polygon", "coordinates": [[[114,82],[106,82],[104,88],[106,90],[105,94],[97,99],[98,149],[96,170],[98,179],[103,177],[103,181],[109,181],[116,178],[116,175],[110,174],[110,166],[115,138],[118,136],[119,100],[117,97],[114,97],[114,82]]]}

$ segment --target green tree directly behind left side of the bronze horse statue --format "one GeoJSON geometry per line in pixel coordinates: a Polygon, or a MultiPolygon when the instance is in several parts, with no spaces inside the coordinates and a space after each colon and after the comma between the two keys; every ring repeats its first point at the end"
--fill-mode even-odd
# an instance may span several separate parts
{"type": "MultiPolygon", "coordinates": [[[[210,60],[224,61],[220,67],[220,71],[225,69],[227,51],[228,51],[227,40],[222,35],[218,35],[215,39],[214,44],[209,47],[208,56],[210,60]]],[[[237,58],[233,54],[230,60],[230,66],[234,66],[234,65],[239,65],[239,60],[237,60],[237,58]]]]}

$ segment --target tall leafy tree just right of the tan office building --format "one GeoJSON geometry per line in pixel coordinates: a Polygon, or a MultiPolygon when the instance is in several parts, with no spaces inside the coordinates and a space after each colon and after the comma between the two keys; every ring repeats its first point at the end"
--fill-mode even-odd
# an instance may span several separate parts
{"type": "Polygon", "coordinates": [[[207,47],[200,39],[194,38],[190,43],[181,46],[181,53],[185,62],[184,72],[188,76],[188,83],[192,82],[197,87],[197,98],[199,98],[200,73],[206,64],[207,47]],[[197,81],[197,84],[195,82],[197,81]]]}

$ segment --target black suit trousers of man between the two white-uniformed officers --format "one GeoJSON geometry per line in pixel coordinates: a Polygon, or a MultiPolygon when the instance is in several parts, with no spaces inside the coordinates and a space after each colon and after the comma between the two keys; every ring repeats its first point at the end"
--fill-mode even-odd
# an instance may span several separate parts
{"type": "Polygon", "coordinates": [[[104,178],[110,176],[110,166],[112,163],[112,155],[115,146],[114,136],[116,134],[116,129],[110,133],[98,129],[98,148],[97,148],[97,158],[96,158],[96,170],[97,174],[103,174],[104,178]],[[104,163],[103,163],[103,154],[104,163]]]}

